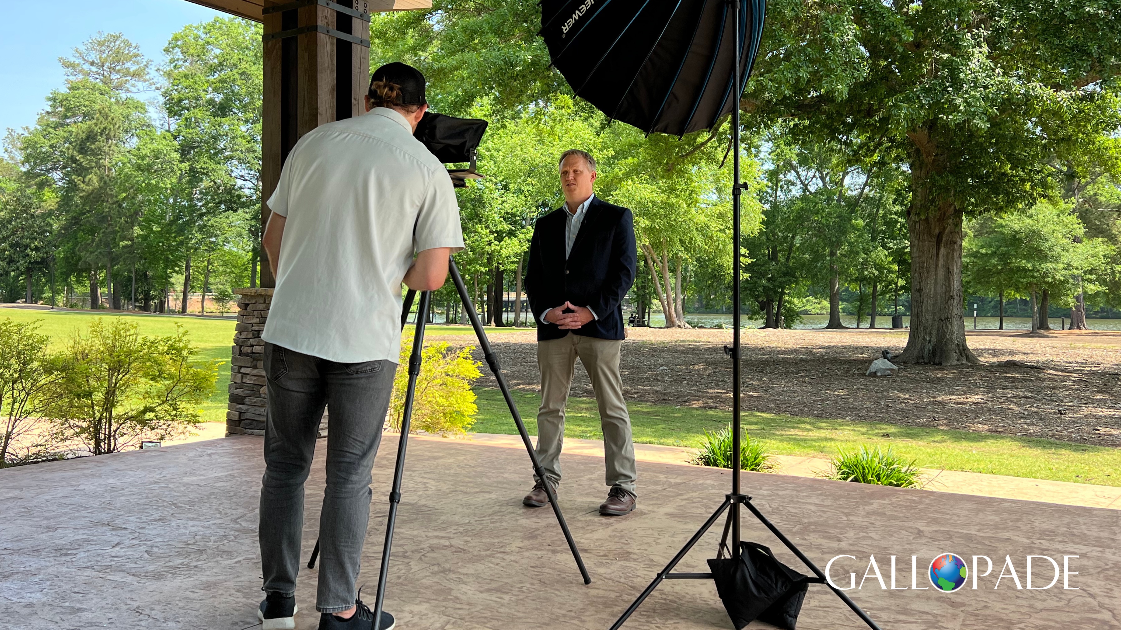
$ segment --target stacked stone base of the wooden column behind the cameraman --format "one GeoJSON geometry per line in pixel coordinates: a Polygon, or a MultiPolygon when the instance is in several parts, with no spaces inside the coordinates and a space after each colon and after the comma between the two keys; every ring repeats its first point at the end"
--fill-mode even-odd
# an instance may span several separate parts
{"type": "MultiPolygon", "coordinates": [[[[230,358],[230,405],[226,435],[265,435],[268,390],[265,380],[265,322],[272,289],[238,289],[238,324],[230,358]]],[[[319,437],[327,435],[327,414],[319,421],[319,437]]]]}

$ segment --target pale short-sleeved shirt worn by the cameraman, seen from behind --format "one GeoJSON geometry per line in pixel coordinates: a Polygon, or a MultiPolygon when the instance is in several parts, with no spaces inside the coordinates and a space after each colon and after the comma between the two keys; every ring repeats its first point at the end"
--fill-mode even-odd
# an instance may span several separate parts
{"type": "Polygon", "coordinates": [[[265,341],[341,363],[396,363],[414,254],[463,249],[444,165],[404,115],[376,108],[300,138],[268,205],[287,221],[265,341]]]}

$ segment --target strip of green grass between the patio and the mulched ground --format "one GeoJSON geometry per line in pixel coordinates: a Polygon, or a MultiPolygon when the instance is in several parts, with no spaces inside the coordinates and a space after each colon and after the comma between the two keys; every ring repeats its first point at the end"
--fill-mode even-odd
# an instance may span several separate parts
{"type": "MultiPolygon", "coordinates": [[[[517,429],[497,389],[478,388],[479,416],[471,428],[478,433],[513,434],[517,429]]],[[[526,426],[537,434],[537,395],[516,391],[518,410],[526,426]]],[[[697,446],[704,430],[730,423],[731,413],[691,407],[631,402],[634,442],[697,446]]],[[[797,418],[772,414],[743,414],[743,427],[777,455],[832,456],[837,450],[891,446],[921,466],[1006,474],[1031,479],[1121,485],[1121,448],[1068,444],[1053,439],[990,435],[963,430],[906,427],[884,423],[797,418]]],[[[602,439],[595,401],[568,400],[565,435],[602,439]]]]}

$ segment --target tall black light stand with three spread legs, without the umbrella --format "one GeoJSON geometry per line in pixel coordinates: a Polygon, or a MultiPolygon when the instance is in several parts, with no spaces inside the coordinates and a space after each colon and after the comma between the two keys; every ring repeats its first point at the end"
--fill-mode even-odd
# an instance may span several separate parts
{"type": "MultiPolygon", "coordinates": [[[[740,0],[730,0],[732,3],[732,24],[734,25],[732,29],[735,31],[734,39],[734,65],[732,68],[733,76],[733,92],[734,98],[739,101],[740,95],[743,93],[743,84],[740,75],[740,48],[742,44],[741,34],[741,19],[740,19],[740,0]]],[[[685,554],[689,553],[689,549],[701,540],[701,537],[705,535],[706,531],[716,522],[724,510],[731,508],[728,515],[726,528],[730,525],[732,528],[732,558],[740,558],[740,506],[744,506],[748,510],[759,519],[763,526],[767,527],[788,549],[790,549],[794,555],[798,556],[814,574],[817,576],[816,580],[810,578],[810,583],[825,584],[834,593],[837,594],[841,600],[849,605],[855,612],[864,623],[868,624],[872,630],[881,630],[879,626],[868,614],[861,610],[855,602],[853,602],[849,595],[842,592],[840,589],[830,583],[826,578],[825,573],[817,568],[805,554],[802,553],[798,547],[790,541],[789,538],[782,535],[777,527],[775,527],[767,517],[759,511],[751,503],[751,497],[743,494],[740,485],[740,444],[743,438],[743,432],[740,426],[740,196],[743,191],[748,188],[747,184],[740,183],[740,105],[739,102],[732,108],[732,149],[734,154],[732,156],[732,346],[724,346],[724,353],[731,355],[732,358],[732,492],[724,495],[724,501],[716,508],[716,511],[708,517],[708,520],[701,526],[701,529],[689,538],[688,543],[677,555],[674,556],[666,568],[661,569],[660,573],[654,578],[654,582],[646,587],[645,591],[631,603],[631,605],[623,612],[623,614],[611,626],[611,630],[619,630],[627,619],[642,604],[658,584],[661,584],[663,580],[712,580],[711,573],[670,573],[677,563],[685,557],[685,554]]]]}

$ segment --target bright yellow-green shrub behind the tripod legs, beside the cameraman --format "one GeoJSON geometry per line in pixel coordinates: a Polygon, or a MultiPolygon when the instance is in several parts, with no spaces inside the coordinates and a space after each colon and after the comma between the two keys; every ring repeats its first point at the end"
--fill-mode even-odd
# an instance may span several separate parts
{"type": "MultiPolygon", "coordinates": [[[[475,392],[471,386],[481,374],[479,361],[471,359],[474,346],[455,352],[447,342],[428,345],[420,352],[420,374],[413,401],[410,430],[439,435],[464,434],[475,423],[475,392]]],[[[413,337],[401,339],[401,358],[393,378],[390,426],[400,430],[405,413],[405,390],[409,385],[409,354],[413,337]]]]}

